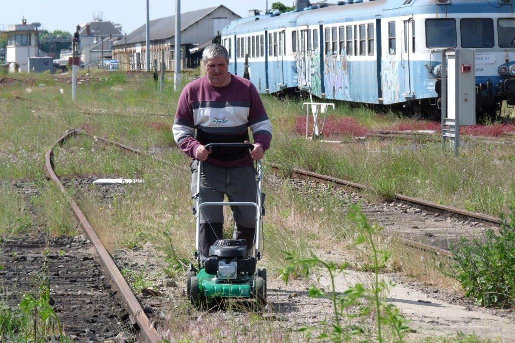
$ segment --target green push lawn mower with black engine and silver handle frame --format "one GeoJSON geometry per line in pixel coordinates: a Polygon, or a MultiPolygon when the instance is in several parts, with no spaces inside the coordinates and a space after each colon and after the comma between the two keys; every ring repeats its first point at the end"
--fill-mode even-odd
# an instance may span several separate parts
{"type": "MultiPolygon", "coordinates": [[[[206,149],[219,148],[253,149],[251,143],[210,143],[206,149]]],[[[256,161],[255,182],[258,184],[256,201],[253,202],[204,202],[199,203],[200,174],[203,161],[199,161],[197,170],[197,192],[193,196],[193,213],[196,219],[195,258],[187,271],[187,294],[194,306],[207,304],[210,300],[223,301],[228,298],[255,299],[259,309],[266,305],[266,269],[256,269],[256,261],[261,260],[260,238],[262,236],[262,218],[265,208],[262,193],[262,164],[256,161]],[[201,261],[199,252],[200,211],[208,206],[251,206],[256,209],[255,251],[251,256],[246,240],[219,239],[209,249],[209,257],[201,261]]]]}

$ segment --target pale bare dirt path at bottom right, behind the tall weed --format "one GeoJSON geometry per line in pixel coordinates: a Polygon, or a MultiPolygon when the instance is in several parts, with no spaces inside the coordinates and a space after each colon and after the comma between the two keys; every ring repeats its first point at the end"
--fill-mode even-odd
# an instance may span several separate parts
{"type": "MultiPolygon", "coordinates": [[[[338,292],[344,292],[351,285],[370,280],[372,274],[347,270],[337,276],[335,283],[338,292]]],[[[381,275],[385,282],[392,278],[381,275]]],[[[323,286],[330,285],[330,279],[322,276],[323,286]]],[[[458,331],[476,333],[482,338],[500,339],[503,342],[515,341],[515,320],[491,314],[487,309],[470,308],[428,296],[406,284],[394,285],[387,294],[388,302],[401,309],[406,318],[411,319],[410,327],[417,332],[410,338],[454,335],[458,331]]]]}

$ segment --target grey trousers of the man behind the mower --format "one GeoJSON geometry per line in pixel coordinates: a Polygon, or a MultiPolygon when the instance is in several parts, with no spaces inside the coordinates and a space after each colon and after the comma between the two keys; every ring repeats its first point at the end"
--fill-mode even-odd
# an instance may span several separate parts
{"type": "MultiPolygon", "coordinates": [[[[191,164],[192,196],[197,192],[198,160],[191,164]]],[[[255,202],[258,191],[256,171],[253,166],[226,168],[203,163],[200,174],[199,202],[222,202],[227,195],[231,202],[255,202]]],[[[256,210],[250,206],[231,206],[234,221],[234,239],[247,240],[250,250],[254,244],[256,210]]],[[[203,207],[200,215],[200,254],[207,257],[209,247],[217,239],[223,239],[224,212],[221,206],[203,207]]]]}

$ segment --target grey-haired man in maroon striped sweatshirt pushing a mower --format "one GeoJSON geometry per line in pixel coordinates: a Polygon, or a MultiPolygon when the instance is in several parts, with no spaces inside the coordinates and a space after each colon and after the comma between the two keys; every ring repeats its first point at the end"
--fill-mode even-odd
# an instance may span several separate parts
{"type": "MultiPolygon", "coordinates": [[[[192,194],[197,191],[198,160],[204,161],[200,179],[199,201],[255,202],[257,185],[252,159],[262,159],[270,147],[272,125],[254,85],[229,73],[229,53],[220,44],[204,49],[202,60],[206,76],[184,87],[174,121],[174,138],[179,147],[194,160],[192,194]],[[254,149],[205,149],[208,143],[248,142],[248,128],[254,149]]],[[[252,250],[256,229],[255,208],[232,208],[235,239],[245,239],[252,250]]],[[[208,206],[200,213],[199,245],[201,260],[209,256],[209,247],[223,238],[224,215],[221,206],[208,206]]]]}

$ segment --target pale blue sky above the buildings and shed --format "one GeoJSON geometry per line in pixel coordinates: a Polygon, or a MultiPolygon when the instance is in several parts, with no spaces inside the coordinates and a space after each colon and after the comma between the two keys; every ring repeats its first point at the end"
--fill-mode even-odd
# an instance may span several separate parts
{"type": "MultiPolygon", "coordinates": [[[[2,0],[4,2],[7,0],[2,0]]],[[[268,0],[270,7],[272,2],[268,0]]],[[[293,5],[294,0],[281,0],[287,6],[293,5]]],[[[25,16],[27,23],[41,23],[42,28],[49,31],[56,29],[75,31],[76,25],[93,20],[93,13],[103,14],[105,21],[122,24],[127,33],[140,27],[146,21],[145,0],[101,0],[101,1],[56,1],[56,0],[18,0],[9,2],[10,5],[0,10],[0,30],[3,25],[21,24],[25,16]],[[76,4],[76,9],[70,6],[76,4]]],[[[181,1],[181,12],[193,11],[206,7],[225,5],[227,8],[243,17],[249,9],[265,9],[266,0],[187,0],[181,1]]],[[[175,14],[175,0],[150,0],[150,19],[175,14]]]]}

